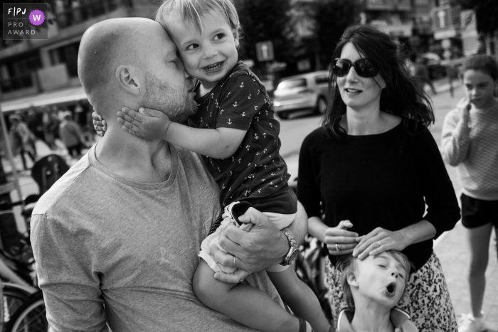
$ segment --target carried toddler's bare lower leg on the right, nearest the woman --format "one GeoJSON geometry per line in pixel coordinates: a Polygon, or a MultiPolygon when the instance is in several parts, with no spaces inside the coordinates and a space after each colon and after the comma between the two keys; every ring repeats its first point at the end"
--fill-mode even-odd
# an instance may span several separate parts
{"type": "Polygon", "coordinates": [[[280,297],[290,306],[292,312],[311,324],[315,332],[327,332],[330,325],[325,318],[317,296],[289,267],[282,272],[267,272],[280,297]]]}

